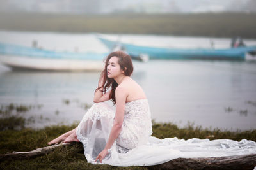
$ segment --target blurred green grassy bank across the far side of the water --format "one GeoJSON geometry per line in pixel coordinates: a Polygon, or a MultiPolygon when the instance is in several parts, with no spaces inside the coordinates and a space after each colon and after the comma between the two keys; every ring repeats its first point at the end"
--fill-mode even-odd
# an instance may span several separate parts
{"type": "Polygon", "coordinates": [[[0,13],[0,29],[256,38],[256,13],[56,15],[0,13]]]}

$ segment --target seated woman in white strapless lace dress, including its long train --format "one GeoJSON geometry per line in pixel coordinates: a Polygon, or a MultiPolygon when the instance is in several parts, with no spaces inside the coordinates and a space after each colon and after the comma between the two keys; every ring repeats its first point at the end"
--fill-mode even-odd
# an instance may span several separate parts
{"type": "Polygon", "coordinates": [[[150,166],[178,157],[220,157],[256,153],[256,143],[243,139],[165,138],[152,134],[150,109],[140,85],[130,77],[131,57],[112,52],[100,74],[93,104],[76,129],[48,144],[80,141],[84,155],[92,164],[150,166]],[[105,101],[111,100],[115,106],[105,101]]]}

